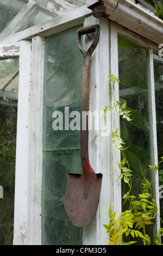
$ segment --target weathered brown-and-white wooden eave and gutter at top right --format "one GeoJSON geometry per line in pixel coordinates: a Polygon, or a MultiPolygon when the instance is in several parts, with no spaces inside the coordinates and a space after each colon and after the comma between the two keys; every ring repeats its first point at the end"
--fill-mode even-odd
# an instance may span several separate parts
{"type": "Polygon", "coordinates": [[[151,11],[141,7],[131,0],[118,0],[113,9],[112,1],[104,0],[106,14],[109,19],[142,35],[156,44],[163,40],[163,21],[156,17],[151,11]]]}

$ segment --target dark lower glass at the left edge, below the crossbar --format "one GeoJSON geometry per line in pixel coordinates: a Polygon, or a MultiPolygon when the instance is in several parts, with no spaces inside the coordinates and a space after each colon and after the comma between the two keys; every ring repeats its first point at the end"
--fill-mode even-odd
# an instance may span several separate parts
{"type": "MultiPolygon", "coordinates": [[[[0,186],[2,188],[0,190],[0,245],[12,245],[17,107],[4,106],[2,102],[0,102],[0,186]]],[[[9,101],[8,104],[10,104],[9,101]]]]}

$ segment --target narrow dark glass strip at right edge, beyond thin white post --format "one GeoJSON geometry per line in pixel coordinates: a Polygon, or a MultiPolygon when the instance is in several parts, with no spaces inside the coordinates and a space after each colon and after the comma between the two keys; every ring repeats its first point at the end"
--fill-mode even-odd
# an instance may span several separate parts
{"type": "MultiPolygon", "coordinates": [[[[157,143],[158,143],[158,162],[163,156],[163,59],[154,56],[154,81],[155,81],[155,106],[156,106],[156,127],[157,127],[157,143]]],[[[159,185],[163,185],[163,164],[159,170],[159,185]]],[[[162,191],[162,187],[160,187],[162,191]]],[[[160,215],[163,220],[163,199],[162,192],[160,194],[160,215]]],[[[161,227],[163,224],[161,222],[161,227]]]]}

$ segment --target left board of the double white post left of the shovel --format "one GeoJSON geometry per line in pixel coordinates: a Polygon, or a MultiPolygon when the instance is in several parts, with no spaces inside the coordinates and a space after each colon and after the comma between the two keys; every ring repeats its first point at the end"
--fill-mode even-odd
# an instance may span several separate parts
{"type": "Polygon", "coordinates": [[[20,44],[17,107],[14,245],[28,244],[31,42],[20,44]]]}

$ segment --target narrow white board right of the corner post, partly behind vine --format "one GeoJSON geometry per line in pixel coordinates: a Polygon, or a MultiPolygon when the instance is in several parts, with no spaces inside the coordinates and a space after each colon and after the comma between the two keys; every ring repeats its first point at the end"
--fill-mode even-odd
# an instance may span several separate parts
{"type": "MultiPolygon", "coordinates": [[[[110,56],[110,70],[109,75],[118,77],[118,46],[117,46],[117,24],[115,22],[109,22],[110,32],[110,45],[109,45],[109,56],[110,56]]],[[[108,78],[109,80],[109,78],[108,78]]],[[[108,81],[109,84],[109,81],[108,81]]],[[[109,85],[108,85],[109,86],[109,85]]],[[[115,84],[114,92],[115,99],[119,100],[119,87],[115,84]]],[[[108,104],[107,104],[108,105],[108,104]]],[[[114,99],[110,93],[110,105],[114,106],[114,99]]],[[[111,111],[111,131],[116,131],[119,127],[117,113],[114,110],[111,111]]],[[[121,174],[121,170],[118,168],[118,163],[121,162],[121,153],[117,149],[115,144],[112,143],[112,134],[110,134],[110,202],[112,211],[118,214],[121,213],[121,180],[118,180],[118,176],[121,174]]]]}

